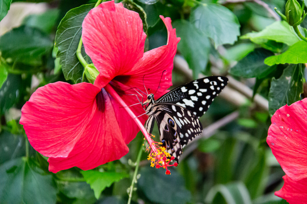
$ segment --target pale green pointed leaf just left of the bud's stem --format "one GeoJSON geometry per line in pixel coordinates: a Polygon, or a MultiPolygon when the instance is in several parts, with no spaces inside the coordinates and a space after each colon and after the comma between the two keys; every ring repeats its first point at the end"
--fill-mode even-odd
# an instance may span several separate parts
{"type": "Polygon", "coordinates": [[[263,40],[274,40],[287,45],[300,41],[294,29],[286,21],[276,21],[260,32],[251,32],[241,36],[241,39],[250,39],[257,44],[263,40]]]}

